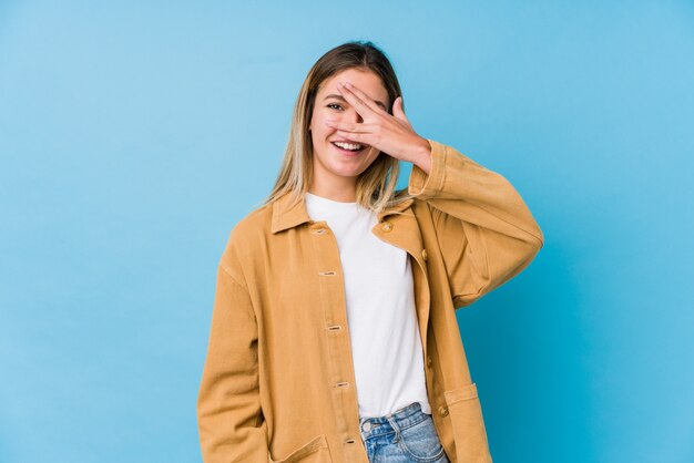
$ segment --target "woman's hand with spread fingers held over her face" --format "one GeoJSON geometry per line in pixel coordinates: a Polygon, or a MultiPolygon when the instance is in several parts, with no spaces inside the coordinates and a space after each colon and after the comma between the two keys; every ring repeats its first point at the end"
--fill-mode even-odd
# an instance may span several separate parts
{"type": "Polygon", "coordinates": [[[364,120],[363,123],[326,121],[339,136],[351,142],[376,147],[398,160],[419,164],[422,156],[429,156],[431,146],[419,136],[402,111],[402,96],[392,103],[392,115],[388,114],[366,93],[347,83],[338,84],[338,91],[364,120]]]}

